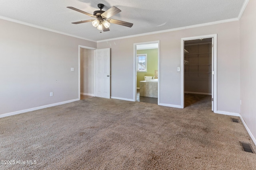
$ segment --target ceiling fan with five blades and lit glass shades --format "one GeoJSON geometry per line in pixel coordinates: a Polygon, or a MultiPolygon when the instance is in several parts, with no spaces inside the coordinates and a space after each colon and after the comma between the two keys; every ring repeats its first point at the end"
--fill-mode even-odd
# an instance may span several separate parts
{"type": "Polygon", "coordinates": [[[100,10],[94,11],[93,15],[89,14],[87,12],[84,12],[82,10],[78,10],[78,9],[76,9],[74,7],[71,7],[71,6],[68,6],[67,8],[96,18],[96,20],[85,20],[85,21],[72,22],[74,24],[92,22],[92,25],[94,27],[97,27],[97,29],[103,30],[103,31],[109,31],[110,30],[109,29],[110,23],[115,23],[115,24],[118,24],[118,25],[126,26],[126,27],[132,27],[132,25],[133,25],[133,23],[120,21],[120,20],[114,20],[114,19],[110,18],[110,17],[118,14],[119,12],[121,12],[121,10],[119,10],[115,6],[112,6],[110,9],[108,9],[106,11],[102,11],[102,9],[104,8],[104,4],[98,4],[98,8],[100,8],[100,10]]]}

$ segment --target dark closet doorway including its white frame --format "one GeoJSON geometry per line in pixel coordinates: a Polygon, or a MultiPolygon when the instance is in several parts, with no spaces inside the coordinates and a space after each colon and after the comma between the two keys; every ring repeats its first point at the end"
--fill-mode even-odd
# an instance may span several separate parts
{"type": "Polygon", "coordinates": [[[195,102],[212,101],[212,111],[217,109],[216,88],[217,35],[182,39],[182,106],[195,102]]]}

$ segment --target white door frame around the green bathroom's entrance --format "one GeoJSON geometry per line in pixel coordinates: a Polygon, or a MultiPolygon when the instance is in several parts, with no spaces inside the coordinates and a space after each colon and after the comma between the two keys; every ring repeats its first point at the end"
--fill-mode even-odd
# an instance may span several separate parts
{"type": "Polygon", "coordinates": [[[158,91],[157,91],[157,104],[159,105],[160,103],[160,40],[158,41],[148,41],[148,42],[142,42],[142,43],[134,43],[133,44],[133,53],[134,53],[134,57],[133,57],[133,61],[134,61],[134,77],[133,77],[133,81],[134,81],[134,98],[133,101],[136,102],[137,98],[136,98],[136,94],[137,94],[137,45],[144,45],[144,44],[158,44],[158,91]]]}

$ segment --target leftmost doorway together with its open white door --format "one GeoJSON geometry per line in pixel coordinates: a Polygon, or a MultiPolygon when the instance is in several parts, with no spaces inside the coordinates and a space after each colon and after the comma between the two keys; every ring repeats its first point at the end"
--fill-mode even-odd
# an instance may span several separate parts
{"type": "Polygon", "coordinates": [[[110,48],[79,45],[78,53],[79,99],[81,95],[110,98],[110,48]]]}

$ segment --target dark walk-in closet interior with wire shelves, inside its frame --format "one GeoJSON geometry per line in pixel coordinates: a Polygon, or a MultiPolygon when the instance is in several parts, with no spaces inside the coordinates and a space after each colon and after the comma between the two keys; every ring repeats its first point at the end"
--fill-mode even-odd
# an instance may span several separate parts
{"type": "Polygon", "coordinates": [[[212,50],[213,38],[184,41],[184,107],[212,100],[212,50]]]}

